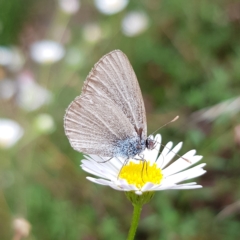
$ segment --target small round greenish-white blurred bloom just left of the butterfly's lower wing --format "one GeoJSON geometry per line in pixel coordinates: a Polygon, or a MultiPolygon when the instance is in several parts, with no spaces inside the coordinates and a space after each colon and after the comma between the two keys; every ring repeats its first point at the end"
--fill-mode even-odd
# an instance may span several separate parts
{"type": "Polygon", "coordinates": [[[34,125],[40,133],[51,133],[55,128],[52,116],[46,113],[39,114],[34,120],[34,125]]]}

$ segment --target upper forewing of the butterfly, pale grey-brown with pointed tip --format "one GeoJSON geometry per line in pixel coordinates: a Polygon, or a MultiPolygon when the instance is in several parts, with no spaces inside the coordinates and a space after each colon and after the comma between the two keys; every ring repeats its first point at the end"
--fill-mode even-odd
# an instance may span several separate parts
{"type": "Polygon", "coordinates": [[[131,124],[147,136],[147,122],[142,93],[127,56],[115,50],[103,56],[89,73],[83,94],[98,95],[113,101],[131,124]]]}

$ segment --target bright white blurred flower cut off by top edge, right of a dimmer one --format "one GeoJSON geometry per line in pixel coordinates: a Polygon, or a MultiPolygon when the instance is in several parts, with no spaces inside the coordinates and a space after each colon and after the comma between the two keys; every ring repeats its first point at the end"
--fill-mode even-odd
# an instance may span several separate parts
{"type": "Polygon", "coordinates": [[[129,0],[95,0],[97,9],[106,15],[111,15],[122,11],[129,0]]]}

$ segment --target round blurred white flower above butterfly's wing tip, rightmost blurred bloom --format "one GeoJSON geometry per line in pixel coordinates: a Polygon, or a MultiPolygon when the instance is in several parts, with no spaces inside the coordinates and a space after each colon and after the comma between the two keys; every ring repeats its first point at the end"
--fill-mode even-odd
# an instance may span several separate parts
{"type": "Polygon", "coordinates": [[[144,12],[129,12],[122,20],[122,31],[126,36],[133,37],[144,32],[149,25],[149,20],[144,12]]]}

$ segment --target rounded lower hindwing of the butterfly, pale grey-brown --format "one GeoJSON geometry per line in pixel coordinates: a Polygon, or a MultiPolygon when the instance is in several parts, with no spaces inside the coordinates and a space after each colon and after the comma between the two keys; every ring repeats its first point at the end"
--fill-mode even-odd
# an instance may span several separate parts
{"type": "Polygon", "coordinates": [[[116,140],[136,136],[129,119],[114,102],[89,94],[70,104],[64,128],[75,150],[103,157],[115,155],[116,140]]]}

